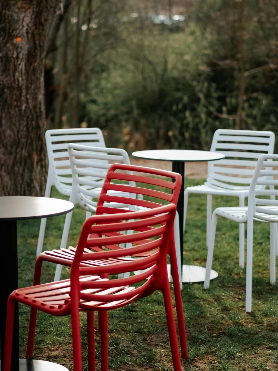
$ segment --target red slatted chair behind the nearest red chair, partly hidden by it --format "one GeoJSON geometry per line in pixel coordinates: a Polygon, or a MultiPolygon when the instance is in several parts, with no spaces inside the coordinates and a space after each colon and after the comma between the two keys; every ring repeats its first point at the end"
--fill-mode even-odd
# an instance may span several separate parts
{"type": "MultiPolygon", "coordinates": [[[[181,182],[181,175],[170,171],[126,164],[113,164],[107,172],[103,188],[98,199],[96,214],[108,215],[114,213],[128,213],[132,210],[139,211],[153,209],[160,207],[163,203],[172,203],[177,205],[181,189],[181,182]],[[164,178],[161,179],[158,177],[164,178]],[[170,180],[165,178],[170,178],[170,180]],[[116,182],[121,183],[115,184],[116,182]],[[136,184],[136,186],[130,186],[129,184],[124,184],[123,182],[134,182],[133,184],[136,184]],[[154,190],[148,188],[150,185],[156,186],[156,189],[154,190]],[[120,193],[119,195],[116,195],[115,192],[113,192],[111,195],[109,194],[109,191],[119,191],[120,193]],[[123,193],[132,194],[134,198],[127,196],[125,197],[123,193]],[[138,197],[141,195],[145,197],[144,200],[142,197],[138,197]],[[120,209],[118,208],[119,205],[121,207],[120,209]]],[[[82,189],[80,189],[80,192],[82,193],[82,189]]],[[[84,188],[84,193],[85,192],[86,189],[84,188]]],[[[40,283],[41,266],[43,261],[58,263],[70,267],[74,259],[75,251],[76,248],[68,248],[45,251],[40,254],[35,265],[34,285],[38,285],[40,283]]],[[[170,256],[171,263],[171,274],[173,278],[179,337],[181,343],[181,355],[183,358],[188,358],[173,227],[171,227],[171,236],[167,252],[170,256]]],[[[86,253],[89,254],[91,251],[87,249],[86,253]]],[[[127,250],[125,250],[125,255],[129,255],[127,250]]],[[[145,256],[146,254],[142,255],[145,256]]],[[[83,260],[81,265],[94,265],[94,255],[90,254],[90,257],[92,259],[91,261],[88,261],[87,259],[83,260]]]]}

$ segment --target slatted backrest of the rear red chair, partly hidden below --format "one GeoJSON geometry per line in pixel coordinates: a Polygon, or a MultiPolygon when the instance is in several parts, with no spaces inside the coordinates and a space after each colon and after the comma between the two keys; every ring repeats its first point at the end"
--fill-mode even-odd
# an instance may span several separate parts
{"type": "Polygon", "coordinates": [[[152,209],[166,203],[173,203],[177,206],[181,184],[181,175],[171,171],[135,165],[113,164],[107,172],[96,213],[99,215],[136,211],[138,207],[152,209]],[[120,184],[115,184],[119,181],[120,184]],[[135,182],[136,186],[122,183],[124,181],[135,182]],[[150,186],[155,186],[156,189],[150,189],[150,186]],[[109,195],[109,191],[132,193],[132,197],[123,194],[109,195]],[[145,196],[144,200],[136,198],[135,195],[145,196]],[[152,197],[151,200],[150,197],[152,197]],[[110,203],[110,207],[105,207],[108,203],[110,203]],[[115,206],[111,207],[113,203],[115,203],[115,206]],[[119,209],[119,204],[121,207],[129,207],[129,210],[119,209]]]}

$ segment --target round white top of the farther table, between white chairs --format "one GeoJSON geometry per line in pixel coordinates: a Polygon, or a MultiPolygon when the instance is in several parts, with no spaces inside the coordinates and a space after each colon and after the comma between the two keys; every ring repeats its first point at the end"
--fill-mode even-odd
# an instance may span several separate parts
{"type": "Polygon", "coordinates": [[[180,161],[180,162],[213,161],[220,160],[225,157],[224,155],[222,155],[222,153],[218,152],[195,150],[136,151],[132,153],[132,156],[148,160],[180,161]]]}

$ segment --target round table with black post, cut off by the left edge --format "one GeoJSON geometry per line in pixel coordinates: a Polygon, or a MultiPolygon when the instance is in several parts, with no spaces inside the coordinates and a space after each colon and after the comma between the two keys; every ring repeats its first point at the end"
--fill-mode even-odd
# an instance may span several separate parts
{"type": "MultiPolygon", "coordinates": [[[[66,214],[74,205],[65,200],[47,197],[0,197],[0,351],[4,355],[7,300],[12,291],[18,288],[17,220],[40,219],[66,214]]],[[[2,369],[3,362],[1,362],[2,369]]],[[[39,360],[19,360],[19,318],[18,305],[15,306],[13,329],[12,371],[67,371],[55,363],[39,360]]]]}

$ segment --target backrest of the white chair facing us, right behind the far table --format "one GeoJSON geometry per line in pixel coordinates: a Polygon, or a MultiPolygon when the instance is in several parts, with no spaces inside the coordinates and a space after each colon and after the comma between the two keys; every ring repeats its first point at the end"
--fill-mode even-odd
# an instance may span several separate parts
{"type": "Polygon", "coordinates": [[[209,162],[205,184],[213,188],[248,190],[258,158],[273,154],[274,143],[273,132],[218,129],[210,150],[222,153],[225,158],[209,162]]]}

